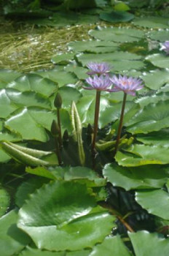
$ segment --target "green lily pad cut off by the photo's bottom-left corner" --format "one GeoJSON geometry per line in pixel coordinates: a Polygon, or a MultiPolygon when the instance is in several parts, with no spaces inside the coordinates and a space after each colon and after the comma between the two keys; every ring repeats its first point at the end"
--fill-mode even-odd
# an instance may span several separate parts
{"type": "Polygon", "coordinates": [[[0,254],[11,256],[20,252],[30,238],[16,225],[17,213],[10,211],[0,219],[0,254]]]}

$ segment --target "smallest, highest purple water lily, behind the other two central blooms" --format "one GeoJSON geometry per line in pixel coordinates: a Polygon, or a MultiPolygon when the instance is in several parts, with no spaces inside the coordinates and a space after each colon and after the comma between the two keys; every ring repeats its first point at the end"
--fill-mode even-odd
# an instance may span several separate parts
{"type": "Polygon", "coordinates": [[[106,62],[90,62],[89,64],[87,64],[87,67],[90,69],[90,71],[87,72],[87,75],[105,75],[110,72],[109,64],[107,64],[106,62]]]}

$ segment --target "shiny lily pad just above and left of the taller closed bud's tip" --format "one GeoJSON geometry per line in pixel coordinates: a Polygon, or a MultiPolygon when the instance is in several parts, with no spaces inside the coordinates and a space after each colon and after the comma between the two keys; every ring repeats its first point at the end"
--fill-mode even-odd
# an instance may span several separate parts
{"type": "Polygon", "coordinates": [[[8,83],[7,88],[17,89],[18,91],[36,91],[45,96],[50,96],[53,91],[56,91],[57,85],[48,78],[42,78],[41,75],[28,74],[8,83]]]}

